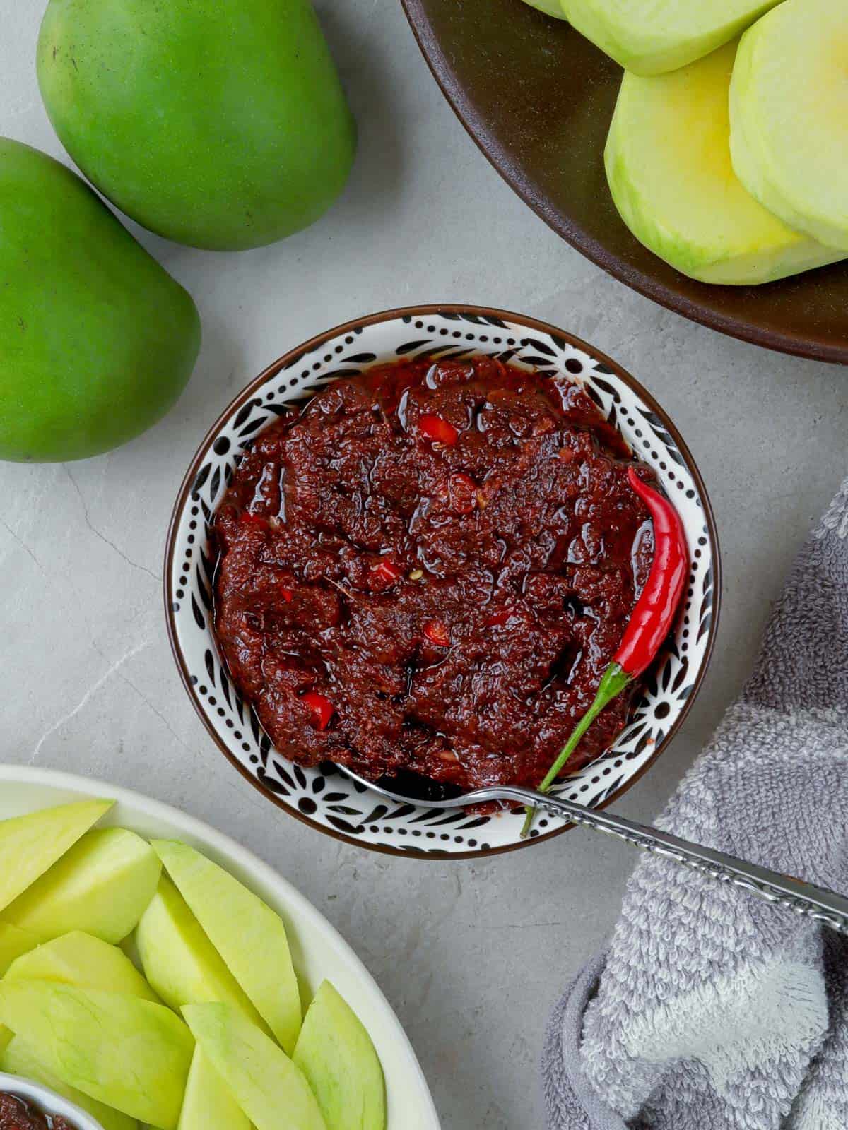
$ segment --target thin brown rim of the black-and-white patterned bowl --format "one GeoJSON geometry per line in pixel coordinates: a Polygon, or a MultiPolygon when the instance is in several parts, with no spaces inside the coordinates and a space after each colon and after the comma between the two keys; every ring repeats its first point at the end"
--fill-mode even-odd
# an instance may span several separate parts
{"type": "Polygon", "coordinates": [[[693,684],[692,694],[683,704],[683,707],[672,723],[668,732],[665,734],[663,740],[655,748],[651,757],[642,765],[631,777],[629,777],[620,789],[616,789],[604,801],[596,806],[597,808],[606,808],[613,801],[617,800],[620,797],[624,796],[629,789],[641,780],[641,777],[648,772],[648,770],[656,763],[657,758],[663,754],[668,745],[672,742],[676,736],[680,728],[683,725],[686,716],[689,715],[692,704],[694,703],[698,694],[701,689],[701,685],[704,680],[707,671],[712,659],[712,653],[716,644],[716,636],[718,633],[719,614],[721,610],[721,557],[720,548],[718,541],[718,530],[716,528],[716,519],[712,512],[712,504],[710,503],[709,495],[707,494],[707,487],[704,486],[701,472],[698,464],[692,457],[692,452],[689,450],[680,432],[675,427],[674,423],[669,419],[665,409],[657,402],[657,400],[651,395],[650,392],[625,368],[608,357],[605,353],[596,349],[595,346],[589,345],[583,341],[582,338],[576,337],[573,333],[568,333],[564,330],[559,329],[551,322],[543,322],[539,319],[530,318],[526,314],[517,314],[512,311],[501,310],[496,306],[475,306],[467,305],[464,303],[436,303],[426,304],[421,306],[399,306],[393,310],[383,310],[375,314],[367,314],[362,318],[349,319],[339,325],[334,327],[330,330],[325,330],[322,333],[317,333],[314,337],[310,338],[308,341],[303,341],[296,345],[294,348],[288,349],[285,354],[278,357],[275,362],[271,362],[259,376],[250,381],[241,392],[230,401],[226,408],[218,415],[215,423],[207,431],[206,435],[201,440],[194,455],[192,457],[189,469],[183,477],[182,484],[176,495],[176,501],[174,503],[173,510],[171,512],[171,521],[167,528],[167,538],[165,542],[165,571],[163,575],[163,594],[165,602],[165,621],[167,625],[167,636],[171,643],[171,651],[176,662],[178,670],[180,672],[180,678],[182,679],[182,685],[191,699],[191,703],[204,723],[207,732],[214,740],[215,745],[218,747],[222,754],[226,757],[231,765],[233,765],[239,773],[244,777],[245,781],[250,782],[254,789],[257,789],[267,800],[270,800],[278,808],[282,808],[289,816],[294,816],[302,824],[308,825],[322,835],[332,836],[334,840],[339,840],[344,843],[353,844],[356,847],[364,847],[367,851],[380,852],[384,855],[399,855],[406,859],[419,859],[419,860],[459,860],[459,859],[479,859],[487,855],[500,855],[504,852],[518,851],[522,847],[529,847],[533,844],[538,844],[547,840],[552,840],[554,836],[562,835],[563,832],[568,832],[574,827],[573,824],[565,824],[560,828],[553,828],[551,832],[545,832],[542,835],[534,836],[525,841],[520,841],[514,844],[502,844],[496,847],[487,849],[475,849],[471,851],[462,852],[438,852],[438,851],[421,851],[416,847],[393,847],[390,844],[374,844],[369,843],[365,840],[358,840],[354,836],[349,836],[344,832],[337,832],[335,828],[328,828],[323,824],[319,824],[317,820],[311,819],[304,812],[301,812],[297,808],[294,808],[285,802],[280,797],[275,796],[269,789],[266,789],[261,781],[256,777],[246,766],[233,755],[233,753],[227,747],[226,742],[223,741],[213,727],[211,722],[206,715],[202,709],[202,704],[198,695],[196,694],[194,687],[191,684],[191,678],[189,676],[189,670],[185,663],[185,658],[180,649],[180,644],[176,638],[176,624],[174,618],[173,600],[174,596],[171,591],[171,574],[174,557],[174,542],[176,540],[176,529],[180,521],[180,515],[183,512],[185,502],[191,489],[191,485],[197,477],[197,472],[200,469],[200,464],[206,455],[208,447],[215,441],[222,426],[231,418],[234,411],[236,411],[245,401],[250,400],[258,389],[260,389],[268,380],[276,376],[282,368],[285,368],[289,362],[295,357],[303,355],[305,353],[311,353],[317,349],[322,342],[329,340],[330,338],[338,337],[339,334],[349,333],[357,327],[374,325],[378,322],[388,322],[397,318],[426,318],[431,314],[474,314],[483,315],[487,318],[500,318],[504,321],[516,322],[519,325],[525,325],[529,330],[536,330],[543,333],[552,333],[556,337],[563,338],[570,345],[574,346],[577,349],[581,349],[583,353],[589,354],[596,360],[599,360],[604,365],[608,365],[609,368],[618,376],[626,385],[629,385],[639,395],[644,403],[650,408],[651,411],[656,412],[659,419],[663,421],[664,427],[668,431],[669,435],[677,445],[677,449],[683,458],[683,461],[692,476],[695,486],[698,488],[698,495],[703,505],[703,516],[707,524],[707,531],[710,544],[710,554],[712,558],[712,575],[713,575],[713,606],[712,606],[712,623],[709,628],[709,638],[707,641],[707,650],[703,655],[703,661],[695,676],[695,681],[693,684]]]}

